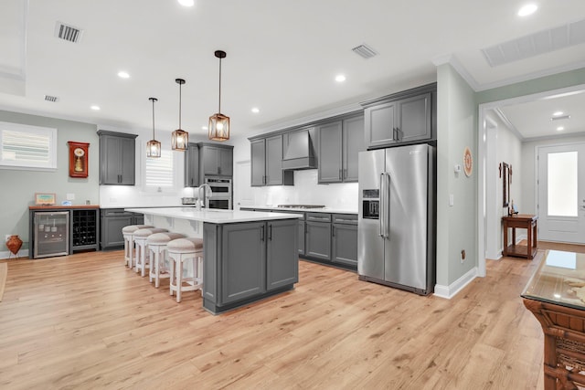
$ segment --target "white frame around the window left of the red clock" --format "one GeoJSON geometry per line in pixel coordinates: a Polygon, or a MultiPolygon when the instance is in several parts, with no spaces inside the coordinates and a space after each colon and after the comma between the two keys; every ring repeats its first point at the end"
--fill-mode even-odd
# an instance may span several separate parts
{"type": "Polygon", "coordinates": [[[50,127],[31,126],[21,123],[0,121],[0,169],[22,169],[28,171],[57,171],[57,129],[50,127]],[[48,137],[48,161],[47,162],[23,162],[6,158],[4,150],[4,132],[20,132],[23,137],[27,135],[41,135],[48,137]]]}

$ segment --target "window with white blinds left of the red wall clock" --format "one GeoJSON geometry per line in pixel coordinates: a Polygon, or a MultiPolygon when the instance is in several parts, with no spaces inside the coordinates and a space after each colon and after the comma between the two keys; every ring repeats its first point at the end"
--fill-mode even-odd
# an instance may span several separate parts
{"type": "Polygon", "coordinates": [[[0,122],[0,167],[57,169],[57,129],[0,122]]]}

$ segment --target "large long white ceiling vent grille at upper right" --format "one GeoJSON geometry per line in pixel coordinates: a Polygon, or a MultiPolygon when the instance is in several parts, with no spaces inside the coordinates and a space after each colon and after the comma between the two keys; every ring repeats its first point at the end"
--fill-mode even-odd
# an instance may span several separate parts
{"type": "Polygon", "coordinates": [[[487,63],[493,68],[582,43],[585,43],[585,20],[486,47],[482,52],[487,63]]]}

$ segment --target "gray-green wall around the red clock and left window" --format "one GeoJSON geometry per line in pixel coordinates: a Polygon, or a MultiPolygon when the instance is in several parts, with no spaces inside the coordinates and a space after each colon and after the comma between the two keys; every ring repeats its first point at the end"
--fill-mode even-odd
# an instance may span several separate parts
{"type": "MultiPolygon", "coordinates": [[[[75,194],[73,205],[84,205],[90,200],[98,205],[99,199],[99,139],[94,124],[64,121],[54,118],[0,111],[0,121],[44,126],[58,131],[57,171],[40,172],[16,169],[0,169],[0,237],[17,234],[28,248],[28,206],[34,206],[35,193],[55,193],[57,205],[66,200],[67,194],[75,194]],[[69,177],[68,141],[89,142],[89,175],[86,179],[69,177]]],[[[5,250],[0,248],[0,252],[5,250]]]]}

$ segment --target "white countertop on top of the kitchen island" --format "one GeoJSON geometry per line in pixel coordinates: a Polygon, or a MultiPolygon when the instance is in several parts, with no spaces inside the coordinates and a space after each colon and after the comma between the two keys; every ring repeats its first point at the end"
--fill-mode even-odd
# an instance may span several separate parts
{"type": "Polygon", "coordinates": [[[150,216],[166,216],[170,218],[187,219],[191,221],[208,222],[211,224],[233,224],[237,222],[267,221],[274,219],[294,219],[295,214],[270,213],[258,211],[238,210],[206,210],[197,211],[195,207],[148,207],[125,208],[126,211],[150,216]]]}

